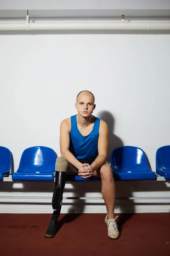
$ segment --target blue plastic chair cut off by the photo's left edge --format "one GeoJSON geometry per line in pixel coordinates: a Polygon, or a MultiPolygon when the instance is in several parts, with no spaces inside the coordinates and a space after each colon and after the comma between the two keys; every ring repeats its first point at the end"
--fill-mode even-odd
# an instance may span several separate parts
{"type": "Polygon", "coordinates": [[[11,152],[8,148],[0,146],[0,180],[8,177],[11,170],[11,152]]]}

